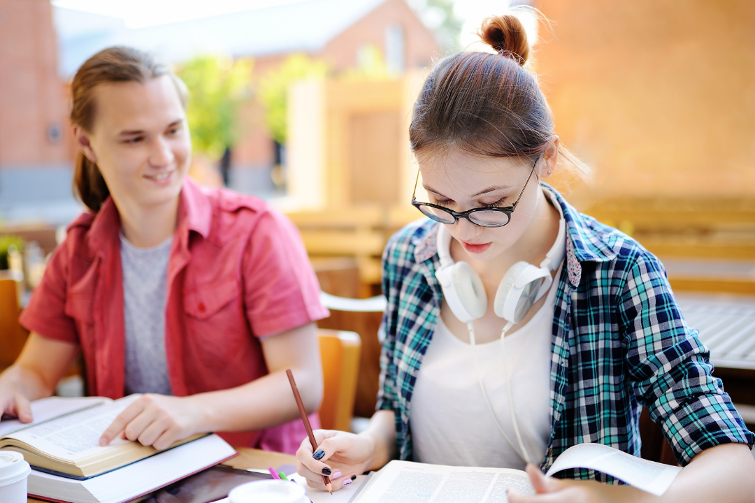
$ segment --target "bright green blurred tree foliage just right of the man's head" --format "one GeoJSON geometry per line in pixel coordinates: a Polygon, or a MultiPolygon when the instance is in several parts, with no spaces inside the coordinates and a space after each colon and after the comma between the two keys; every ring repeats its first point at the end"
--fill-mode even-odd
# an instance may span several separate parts
{"type": "Polygon", "coordinates": [[[186,118],[195,152],[219,159],[238,140],[239,107],[248,100],[251,60],[199,56],[186,61],[176,74],[189,87],[186,118]]]}

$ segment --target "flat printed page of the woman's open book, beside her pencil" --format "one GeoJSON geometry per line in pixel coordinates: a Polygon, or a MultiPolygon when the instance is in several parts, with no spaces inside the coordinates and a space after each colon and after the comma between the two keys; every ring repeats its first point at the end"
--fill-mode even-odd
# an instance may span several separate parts
{"type": "MultiPolygon", "coordinates": [[[[370,480],[359,503],[493,503],[507,501],[506,490],[534,495],[519,470],[468,468],[392,461],[370,480]]],[[[314,501],[314,500],[313,500],[314,501]]]]}

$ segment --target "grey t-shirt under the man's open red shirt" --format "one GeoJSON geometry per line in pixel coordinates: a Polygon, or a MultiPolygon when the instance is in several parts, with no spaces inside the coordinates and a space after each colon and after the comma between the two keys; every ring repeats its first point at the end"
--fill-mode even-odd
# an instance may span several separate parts
{"type": "Polygon", "coordinates": [[[165,300],[172,241],[171,237],[156,247],[137,248],[121,235],[126,394],[172,394],[165,357],[165,300]]]}

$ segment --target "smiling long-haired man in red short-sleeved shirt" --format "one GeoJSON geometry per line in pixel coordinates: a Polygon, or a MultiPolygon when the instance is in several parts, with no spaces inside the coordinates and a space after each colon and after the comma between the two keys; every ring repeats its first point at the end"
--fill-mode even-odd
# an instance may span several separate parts
{"type": "Polygon", "coordinates": [[[294,452],[322,399],[314,321],[327,311],[296,229],[257,198],[201,189],[186,173],[186,92],[131,48],[72,81],[74,186],[90,212],[68,228],[23,311],[31,331],[0,376],[0,411],[32,420],[83,353],[88,392],[143,393],[103,431],[165,449],[207,431],[294,452]]]}

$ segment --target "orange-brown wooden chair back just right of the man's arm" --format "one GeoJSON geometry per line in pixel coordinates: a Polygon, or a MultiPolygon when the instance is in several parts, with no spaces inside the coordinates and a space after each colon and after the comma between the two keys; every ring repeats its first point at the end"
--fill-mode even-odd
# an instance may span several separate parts
{"type": "Polygon", "coordinates": [[[326,430],[350,431],[362,341],[356,332],[318,330],[324,392],[319,409],[326,430]]]}

